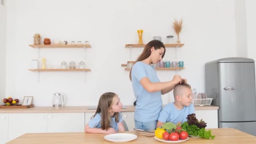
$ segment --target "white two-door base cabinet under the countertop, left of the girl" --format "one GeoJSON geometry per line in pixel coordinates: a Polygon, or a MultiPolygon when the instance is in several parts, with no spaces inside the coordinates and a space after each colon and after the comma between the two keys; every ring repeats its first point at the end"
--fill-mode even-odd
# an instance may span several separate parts
{"type": "Polygon", "coordinates": [[[85,113],[9,114],[8,141],[25,133],[83,132],[85,113]]]}

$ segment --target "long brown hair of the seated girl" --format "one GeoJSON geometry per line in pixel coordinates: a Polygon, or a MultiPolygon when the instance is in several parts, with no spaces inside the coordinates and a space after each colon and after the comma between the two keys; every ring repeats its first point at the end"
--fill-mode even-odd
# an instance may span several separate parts
{"type": "MultiPolygon", "coordinates": [[[[99,98],[99,104],[96,113],[92,116],[93,118],[96,114],[101,114],[101,129],[103,130],[108,130],[111,128],[111,116],[109,113],[109,108],[114,104],[115,96],[117,96],[117,94],[112,92],[103,93],[99,98]]],[[[119,122],[119,112],[115,112],[114,116],[115,121],[119,122]]]]}

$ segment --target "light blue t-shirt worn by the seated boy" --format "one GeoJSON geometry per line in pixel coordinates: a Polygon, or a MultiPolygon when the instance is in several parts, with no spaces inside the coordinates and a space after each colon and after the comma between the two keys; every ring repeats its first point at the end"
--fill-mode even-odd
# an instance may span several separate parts
{"type": "Polygon", "coordinates": [[[174,106],[174,102],[165,105],[163,107],[162,111],[160,112],[160,116],[158,118],[158,121],[165,123],[165,122],[171,122],[174,124],[177,124],[181,121],[181,123],[184,123],[187,121],[187,115],[195,113],[195,107],[193,104],[190,104],[189,107],[183,107],[183,109],[179,110],[176,109],[174,106]]]}

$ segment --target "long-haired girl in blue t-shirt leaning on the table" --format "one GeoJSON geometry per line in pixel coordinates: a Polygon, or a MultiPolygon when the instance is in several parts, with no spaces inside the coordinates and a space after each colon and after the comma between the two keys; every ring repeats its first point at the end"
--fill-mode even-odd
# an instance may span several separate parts
{"type": "Polygon", "coordinates": [[[85,126],[86,133],[116,133],[125,131],[121,110],[123,104],[115,93],[103,93],[99,99],[99,104],[95,115],[85,126]]]}

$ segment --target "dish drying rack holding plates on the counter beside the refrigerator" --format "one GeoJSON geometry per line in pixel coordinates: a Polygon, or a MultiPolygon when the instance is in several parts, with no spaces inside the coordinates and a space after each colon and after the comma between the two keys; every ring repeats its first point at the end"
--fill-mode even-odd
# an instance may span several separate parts
{"type": "Polygon", "coordinates": [[[207,98],[206,93],[198,93],[197,96],[193,96],[193,105],[194,106],[204,106],[211,105],[212,98],[207,98]]]}

